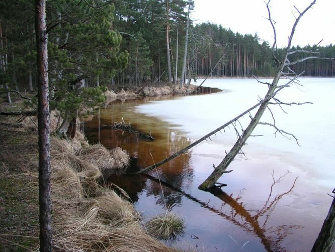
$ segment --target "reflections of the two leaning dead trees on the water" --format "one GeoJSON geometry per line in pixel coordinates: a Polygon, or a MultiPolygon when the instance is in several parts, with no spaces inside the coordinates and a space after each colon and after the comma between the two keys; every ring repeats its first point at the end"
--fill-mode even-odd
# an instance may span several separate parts
{"type": "MultiPolygon", "coordinates": [[[[219,198],[222,201],[220,209],[217,209],[210,205],[210,202],[202,202],[198,200],[197,198],[185,193],[184,191],[180,190],[179,188],[166,183],[164,181],[161,181],[162,187],[164,192],[166,191],[166,188],[169,188],[171,193],[170,195],[175,196],[175,198],[179,199],[179,197],[184,196],[193,202],[198,203],[203,208],[206,208],[210,210],[212,213],[215,213],[219,216],[224,217],[228,221],[232,222],[234,225],[246,230],[249,233],[254,233],[257,235],[260,239],[262,244],[264,245],[265,249],[268,251],[282,251],[283,248],[281,247],[280,243],[283,241],[283,239],[289,235],[293,229],[299,229],[303,228],[303,226],[299,225],[279,225],[279,226],[267,226],[268,220],[270,218],[270,215],[273,213],[274,209],[276,208],[279,201],[286,195],[290,194],[295,186],[295,182],[297,178],[294,179],[291,187],[289,190],[287,190],[284,193],[274,195],[274,186],[279,184],[288,174],[284,174],[283,176],[280,176],[278,179],[275,179],[274,172],[272,173],[272,184],[270,186],[270,192],[269,196],[267,197],[267,200],[265,201],[263,207],[258,210],[248,210],[246,209],[245,204],[239,203],[242,200],[242,193],[243,190],[239,192],[239,194],[234,198],[233,195],[228,195],[224,193],[221,188],[213,188],[210,193],[212,193],[214,196],[219,198]],[[173,191],[175,193],[173,193],[173,191]],[[178,194],[176,194],[179,193],[178,194]],[[255,213],[255,214],[254,214],[255,213]]],[[[160,185],[159,180],[157,178],[154,178],[152,176],[147,175],[150,180],[155,181],[155,185],[152,184],[152,187],[155,188],[155,195],[160,194],[160,185]]],[[[166,200],[166,198],[165,198],[166,200]]],[[[174,199],[175,200],[175,199],[174,199]]],[[[159,198],[156,202],[157,204],[164,204],[163,200],[159,198]]],[[[167,206],[170,206],[171,208],[176,206],[178,203],[176,201],[173,201],[173,204],[169,203],[166,204],[167,206]]]]}

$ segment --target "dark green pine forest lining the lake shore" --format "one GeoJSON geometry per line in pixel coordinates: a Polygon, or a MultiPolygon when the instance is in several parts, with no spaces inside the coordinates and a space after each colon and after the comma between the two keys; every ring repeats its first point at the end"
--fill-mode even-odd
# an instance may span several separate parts
{"type": "MultiPolygon", "coordinates": [[[[83,91],[78,85],[105,85],[116,89],[166,82],[169,66],[173,80],[207,76],[211,72],[212,77],[270,77],[275,71],[269,43],[257,34],[234,33],[212,23],[195,25],[190,20],[186,71],[181,77],[188,7],[192,12],[193,1],[96,0],[93,3],[90,5],[80,0],[47,3],[49,79],[51,94],[56,101],[51,105],[61,111],[65,111],[70,103],[77,108],[85,99],[85,92],[90,97],[94,94],[98,102],[101,100],[103,88],[100,88],[101,92],[83,91]],[[166,53],[166,30],[169,55],[166,53]],[[59,98],[65,94],[67,98],[59,98]]],[[[1,85],[34,90],[34,29],[32,1],[0,3],[1,85]]],[[[311,47],[306,45],[302,49],[311,47]]],[[[321,57],[335,57],[335,46],[331,44],[318,47],[318,50],[321,57]]],[[[278,49],[278,53],[280,51],[278,49]]],[[[294,57],[301,55],[294,54],[294,57]]],[[[293,70],[304,70],[305,76],[335,75],[332,60],[309,59],[294,66],[293,70]]],[[[92,103],[96,101],[87,99],[92,103]]]]}

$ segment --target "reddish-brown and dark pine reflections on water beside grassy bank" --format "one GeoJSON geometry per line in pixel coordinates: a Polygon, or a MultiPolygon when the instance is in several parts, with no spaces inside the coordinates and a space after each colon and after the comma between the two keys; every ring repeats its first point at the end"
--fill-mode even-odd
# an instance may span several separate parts
{"type": "MultiPolygon", "coordinates": [[[[110,117],[112,120],[112,117],[110,117]]],[[[159,132],[155,141],[147,141],[141,139],[138,135],[129,132],[121,132],[119,130],[112,129],[99,129],[99,125],[111,123],[106,119],[106,116],[100,116],[100,113],[95,118],[94,122],[87,124],[86,131],[90,134],[92,142],[100,142],[104,146],[112,148],[120,146],[128,151],[132,156],[132,166],[147,166],[156,160],[164,159],[166,156],[170,156],[172,153],[177,152],[181,148],[189,145],[191,140],[181,135],[180,132],[171,130],[170,127],[162,128],[162,132],[159,132]],[[100,120],[104,120],[100,122],[100,120]],[[98,128],[92,129],[98,125],[98,128]],[[90,130],[91,128],[91,130],[90,130]]],[[[190,152],[185,153],[178,158],[166,163],[159,169],[159,173],[152,171],[154,176],[159,176],[161,179],[171,183],[176,188],[189,187],[193,181],[193,169],[189,165],[190,152]]],[[[147,178],[138,177],[138,180],[132,176],[126,177],[113,177],[110,175],[108,181],[111,181],[118,186],[124,188],[129,194],[131,199],[136,202],[138,200],[138,194],[140,194],[144,188],[148,195],[154,195],[157,199],[157,204],[165,205],[167,207],[174,207],[181,203],[182,196],[179,193],[175,193],[173,190],[166,188],[162,195],[159,184],[156,182],[152,183],[147,181],[147,178]],[[165,198],[165,203],[164,199],[165,198]]]]}

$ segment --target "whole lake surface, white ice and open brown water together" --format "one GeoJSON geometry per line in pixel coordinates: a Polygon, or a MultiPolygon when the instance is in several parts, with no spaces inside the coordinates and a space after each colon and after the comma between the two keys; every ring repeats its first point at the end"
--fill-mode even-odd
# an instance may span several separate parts
{"type": "MultiPolygon", "coordinates": [[[[327,193],[335,184],[335,79],[300,81],[303,87],[283,90],[278,98],[313,104],[284,106],[285,112],[273,105],[271,110],[277,127],[294,134],[301,147],[294,139],[275,136],[274,129],[259,125],[254,135],[263,136],[249,138],[243,148],[245,156],[236,157],[229,167],[233,171],[219,180],[227,184],[222,191],[202,192],[197,187],[234,144],[232,127],[152,171],[152,176],[172,185],[162,184],[163,194],[160,184],[147,176],[112,175],[109,180],[125,188],[144,219],[164,213],[165,208],[181,215],[186,232],[170,242],[179,248],[309,251],[332,200],[327,193]]],[[[250,79],[210,79],[205,85],[223,92],[113,102],[86,122],[86,135],[106,147],[121,146],[136,165],[146,167],[234,118],[257,103],[267,89],[250,79]],[[121,118],[156,139],[147,141],[103,128],[121,118]]],[[[262,121],[273,123],[269,111],[262,121]]],[[[247,122],[247,117],[240,120],[244,129],[247,122]]]]}

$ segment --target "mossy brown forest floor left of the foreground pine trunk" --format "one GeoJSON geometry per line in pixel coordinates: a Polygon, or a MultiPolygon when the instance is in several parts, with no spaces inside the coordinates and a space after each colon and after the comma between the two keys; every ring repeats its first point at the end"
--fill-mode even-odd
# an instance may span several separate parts
{"type": "Polygon", "coordinates": [[[18,124],[20,116],[0,116],[0,251],[38,248],[38,178],[25,155],[37,138],[18,124]]]}

